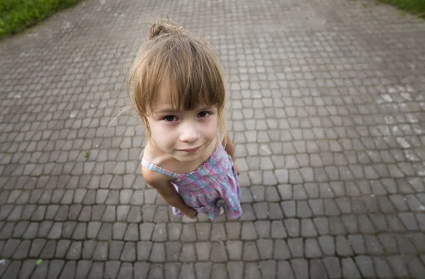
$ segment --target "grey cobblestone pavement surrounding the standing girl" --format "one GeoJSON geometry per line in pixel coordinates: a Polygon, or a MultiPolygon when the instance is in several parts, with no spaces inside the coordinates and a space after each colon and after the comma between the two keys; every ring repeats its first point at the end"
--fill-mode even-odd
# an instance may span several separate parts
{"type": "Polygon", "coordinates": [[[86,0],[0,59],[1,278],[424,278],[424,20],[373,1],[86,0]],[[142,127],[106,129],[166,15],[220,52],[240,220],[174,217],[140,175],[142,127]]]}

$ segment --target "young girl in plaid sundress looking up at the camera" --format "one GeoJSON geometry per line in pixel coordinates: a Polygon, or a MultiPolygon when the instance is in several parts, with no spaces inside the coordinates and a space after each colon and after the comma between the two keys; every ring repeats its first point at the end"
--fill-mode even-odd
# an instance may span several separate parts
{"type": "Polygon", "coordinates": [[[145,123],[142,175],[175,215],[239,218],[239,170],[225,128],[225,83],[205,40],[169,21],[152,23],[130,76],[145,123]],[[219,202],[220,201],[220,202],[219,202]]]}

